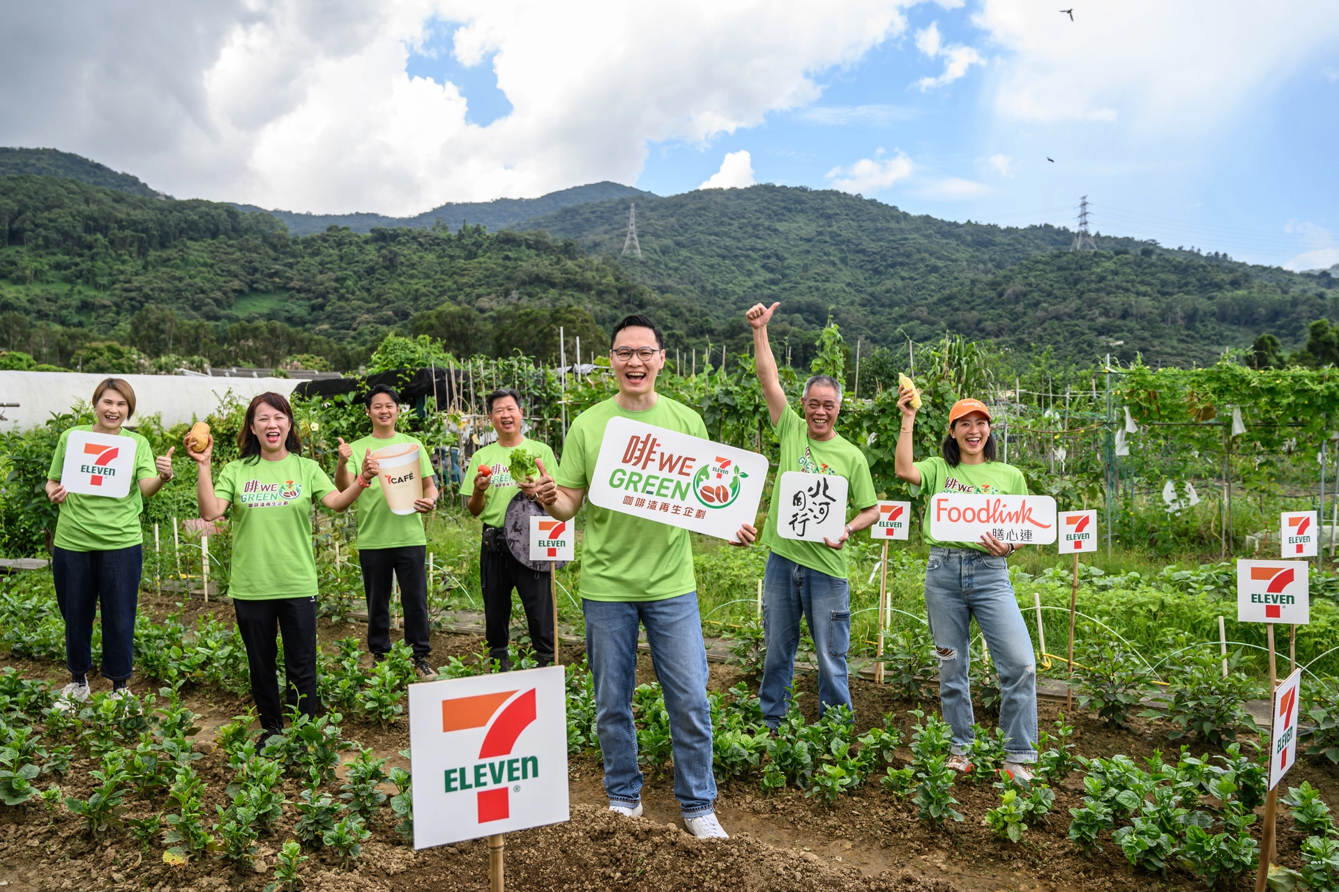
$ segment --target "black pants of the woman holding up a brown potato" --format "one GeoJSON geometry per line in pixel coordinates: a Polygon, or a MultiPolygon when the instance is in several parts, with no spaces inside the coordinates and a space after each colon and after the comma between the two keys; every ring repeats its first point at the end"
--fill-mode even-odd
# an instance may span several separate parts
{"type": "Polygon", "coordinates": [[[233,599],[237,631],[246,645],[246,665],[252,675],[252,699],[260,711],[260,726],[266,734],[284,730],[284,711],[279,702],[279,679],[274,658],[279,655],[276,631],[284,635],[284,675],[288,677],[287,702],[304,715],[315,717],[321,703],[316,698],[316,596],[273,598],[269,600],[233,599]]]}

